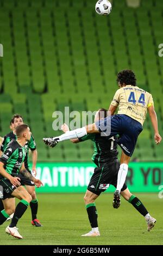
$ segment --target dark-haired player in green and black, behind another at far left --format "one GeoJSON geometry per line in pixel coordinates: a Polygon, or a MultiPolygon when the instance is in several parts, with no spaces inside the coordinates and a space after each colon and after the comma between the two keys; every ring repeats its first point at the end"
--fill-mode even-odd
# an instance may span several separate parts
{"type": "MultiPolygon", "coordinates": [[[[16,134],[15,134],[15,129],[17,125],[23,124],[23,118],[19,114],[15,114],[10,122],[10,126],[12,124],[12,130],[10,133],[4,136],[3,143],[1,145],[1,155],[4,151],[4,149],[7,147],[8,143],[12,139],[16,139],[16,134]]],[[[26,148],[26,157],[24,159],[24,166],[28,170],[29,173],[30,171],[30,166],[29,166],[29,150],[32,151],[32,158],[33,158],[33,167],[32,170],[34,172],[34,175],[36,175],[36,160],[37,160],[37,150],[36,150],[36,144],[34,141],[33,136],[30,137],[30,141],[26,143],[25,145],[26,148]]],[[[18,174],[18,177],[21,179],[21,185],[25,185],[27,188],[28,193],[30,196],[32,196],[32,201],[30,202],[30,209],[32,211],[32,225],[35,225],[36,227],[41,227],[40,221],[37,219],[37,209],[38,209],[38,200],[36,198],[36,193],[35,193],[35,185],[32,181],[24,178],[21,174],[18,174]]],[[[2,201],[0,202],[0,211],[3,210],[3,204],[2,201]]],[[[12,218],[12,216],[11,216],[12,218]]]]}

